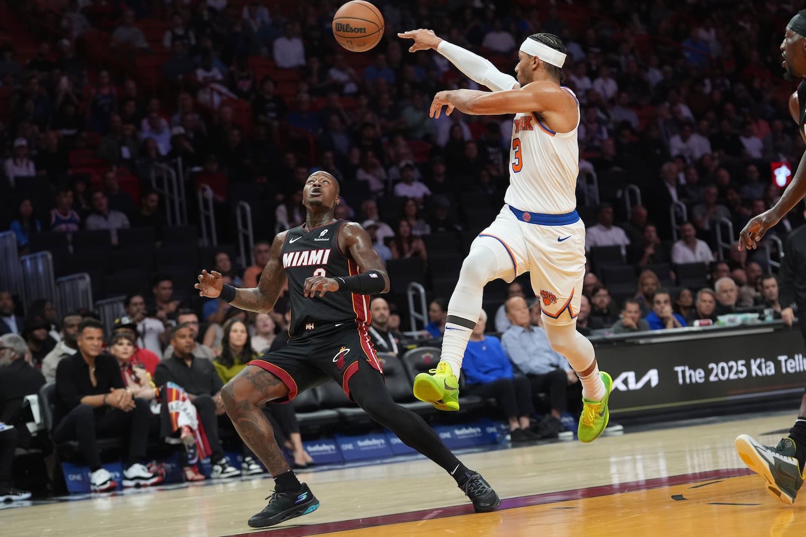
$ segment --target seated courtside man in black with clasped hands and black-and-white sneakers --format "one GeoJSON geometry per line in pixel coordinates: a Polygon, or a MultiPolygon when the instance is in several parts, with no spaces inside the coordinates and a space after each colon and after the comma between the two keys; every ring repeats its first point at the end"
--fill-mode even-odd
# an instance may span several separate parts
{"type": "Polygon", "coordinates": [[[56,368],[54,441],[78,440],[84,464],[91,472],[93,492],[117,488],[112,474],[101,465],[99,435],[123,435],[128,439],[124,487],[160,483],[163,477],[141,464],[146,456],[151,410],[146,401],[133,398],[126,389],[118,361],[102,352],[102,324],[92,319],[81,321],[77,346],[78,352],[61,360],[56,368]]]}

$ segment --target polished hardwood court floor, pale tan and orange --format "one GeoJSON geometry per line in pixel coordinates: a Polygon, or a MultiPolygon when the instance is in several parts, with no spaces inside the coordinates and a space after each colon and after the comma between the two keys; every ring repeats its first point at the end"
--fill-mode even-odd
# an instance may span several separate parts
{"type": "MultiPolygon", "coordinates": [[[[741,433],[777,443],[779,435],[764,433],[790,427],[793,417],[464,455],[505,498],[492,514],[472,514],[428,460],[301,473],[322,506],[256,535],[806,535],[806,493],[784,506],[733,451],[741,433]]],[[[0,535],[239,535],[271,485],[235,481],[2,510],[0,535]]]]}

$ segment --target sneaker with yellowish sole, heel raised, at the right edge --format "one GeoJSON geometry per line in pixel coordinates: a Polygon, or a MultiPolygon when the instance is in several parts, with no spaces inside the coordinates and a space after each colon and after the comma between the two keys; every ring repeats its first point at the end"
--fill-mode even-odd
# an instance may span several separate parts
{"type": "Polygon", "coordinates": [[[769,493],[788,506],[795,502],[798,489],[804,484],[804,476],[795,458],[792,439],[781,439],[778,446],[771,448],[749,435],[739,435],[736,437],[736,451],[747,468],[767,480],[769,493]]]}

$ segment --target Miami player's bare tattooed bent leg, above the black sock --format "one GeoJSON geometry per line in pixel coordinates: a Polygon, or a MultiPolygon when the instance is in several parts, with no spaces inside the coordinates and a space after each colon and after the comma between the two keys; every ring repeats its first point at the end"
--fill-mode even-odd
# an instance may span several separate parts
{"type": "Polygon", "coordinates": [[[221,390],[226,414],[235,425],[235,430],[251,451],[263,461],[272,476],[288,472],[291,467],[285,461],[274,438],[272,424],[268,422],[263,410],[260,410],[260,405],[284,398],[288,393],[288,386],[256,365],[247,365],[221,390]]]}

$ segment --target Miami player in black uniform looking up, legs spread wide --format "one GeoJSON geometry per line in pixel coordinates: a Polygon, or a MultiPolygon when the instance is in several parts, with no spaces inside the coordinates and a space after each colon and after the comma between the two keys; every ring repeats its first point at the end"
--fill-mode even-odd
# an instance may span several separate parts
{"type": "Polygon", "coordinates": [[[358,223],[334,219],[339,183],[330,173],[312,173],[302,199],[305,224],[276,235],[255,289],[224,285],[221,274],[206,270],[196,284],[202,297],[268,313],[289,281],[289,344],[249,362],[221,390],[226,414],[275,481],[268,506],[249,519],[249,526],[272,526],[319,506],[285,461],[259,406],[289,402],[330,380],[377,423],[445,468],[477,513],[495,510],[501,499],[487,481],[459,462],[422,418],[398,406],[384,385],[367,329],[370,295],[388,292],[389,279],[367,232],[358,223]]]}

